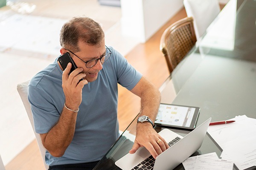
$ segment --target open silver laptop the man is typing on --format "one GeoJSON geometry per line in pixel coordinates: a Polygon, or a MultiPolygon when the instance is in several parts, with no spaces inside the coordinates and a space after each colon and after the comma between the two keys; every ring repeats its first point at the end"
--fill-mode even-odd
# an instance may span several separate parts
{"type": "Polygon", "coordinates": [[[136,153],[126,154],[115,164],[122,170],[172,170],[201,147],[210,121],[211,118],[184,137],[169,129],[161,130],[160,136],[169,142],[170,147],[156,159],[145,147],[140,147],[136,153]]]}

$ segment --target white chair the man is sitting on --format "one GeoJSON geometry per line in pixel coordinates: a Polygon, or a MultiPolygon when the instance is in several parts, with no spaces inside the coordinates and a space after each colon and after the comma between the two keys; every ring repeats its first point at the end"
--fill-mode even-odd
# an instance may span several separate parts
{"type": "MultiPolygon", "coordinates": [[[[30,123],[31,123],[32,128],[33,128],[34,133],[35,133],[33,115],[32,115],[32,111],[31,111],[31,108],[30,108],[30,103],[29,103],[29,100],[28,100],[28,84],[29,84],[29,81],[18,84],[17,85],[17,91],[20,94],[20,98],[23,102],[23,105],[26,109],[26,112],[29,116],[30,123]]],[[[35,138],[36,138],[36,141],[38,143],[38,147],[39,147],[39,150],[41,152],[42,159],[44,161],[45,169],[48,170],[49,166],[45,163],[45,151],[46,151],[46,149],[44,148],[44,146],[41,142],[40,135],[38,133],[35,133],[35,138]]]]}

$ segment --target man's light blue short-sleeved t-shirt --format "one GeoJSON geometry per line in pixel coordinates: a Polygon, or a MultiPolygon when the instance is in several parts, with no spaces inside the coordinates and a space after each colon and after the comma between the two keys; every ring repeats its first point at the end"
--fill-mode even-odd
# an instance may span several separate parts
{"type": "MultiPolygon", "coordinates": [[[[117,83],[131,90],[142,74],[119,52],[109,48],[111,57],[103,64],[98,78],[84,85],[73,141],[62,157],[54,157],[47,151],[48,165],[98,161],[118,138],[117,83]]],[[[28,99],[36,133],[48,133],[58,122],[65,102],[61,84],[62,70],[57,59],[29,82],[28,99]]]]}

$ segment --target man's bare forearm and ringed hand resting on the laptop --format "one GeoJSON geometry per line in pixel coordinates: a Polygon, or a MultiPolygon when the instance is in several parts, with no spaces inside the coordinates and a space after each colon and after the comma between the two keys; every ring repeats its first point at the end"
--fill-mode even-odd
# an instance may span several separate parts
{"type": "MultiPolygon", "coordinates": [[[[154,122],[160,105],[161,97],[159,90],[142,77],[131,91],[141,98],[141,111],[139,116],[148,116],[152,122],[154,122]]],[[[166,141],[152,128],[150,122],[137,124],[136,138],[129,153],[135,153],[139,147],[143,146],[154,158],[169,147],[166,141]],[[157,143],[159,140],[162,141],[160,144],[157,143]]]]}

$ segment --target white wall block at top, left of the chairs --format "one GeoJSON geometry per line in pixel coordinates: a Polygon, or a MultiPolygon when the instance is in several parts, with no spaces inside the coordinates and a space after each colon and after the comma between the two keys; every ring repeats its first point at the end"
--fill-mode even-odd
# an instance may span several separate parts
{"type": "Polygon", "coordinates": [[[121,0],[122,34],[148,40],[183,7],[183,0],[121,0]]]}

